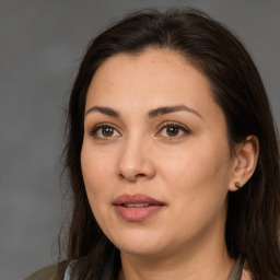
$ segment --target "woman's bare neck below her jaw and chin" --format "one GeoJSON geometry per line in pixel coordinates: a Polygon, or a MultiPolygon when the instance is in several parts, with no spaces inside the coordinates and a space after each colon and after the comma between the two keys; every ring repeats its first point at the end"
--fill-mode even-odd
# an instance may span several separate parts
{"type": "Polygon", "coordinates": [[[119,280],[226,280],[234,266],[221,228],[164,255],[139,256],[121,252],[120,257],[119,280]]]}

